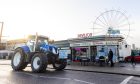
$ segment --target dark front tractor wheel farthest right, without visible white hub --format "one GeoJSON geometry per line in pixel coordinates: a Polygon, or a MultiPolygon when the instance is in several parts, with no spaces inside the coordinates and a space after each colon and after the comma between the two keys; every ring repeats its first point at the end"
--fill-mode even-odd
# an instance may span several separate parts
{"type": "Polygon", "coordinates": [[[67,66],[67,60],[66,59],[56,60],[53,63],[53,68],[55,70],[58,70],[58,71],[63,70],[66,66],[67,66]]]}

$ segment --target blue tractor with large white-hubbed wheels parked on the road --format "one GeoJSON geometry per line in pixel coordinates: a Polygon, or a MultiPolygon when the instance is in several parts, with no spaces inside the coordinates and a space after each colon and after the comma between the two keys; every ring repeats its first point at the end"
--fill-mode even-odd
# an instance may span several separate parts
{"type": "Polygon", "coordinates": [[[45,72],[48,64],[52,64],[56,70],[63,70],[67,57],[60,58],[58,49],[48,44],[47,37],[30,35],[26,43],[16,46],[11,66],[13,70],[20,71],[29,63],[36,73],[45,72]]]}

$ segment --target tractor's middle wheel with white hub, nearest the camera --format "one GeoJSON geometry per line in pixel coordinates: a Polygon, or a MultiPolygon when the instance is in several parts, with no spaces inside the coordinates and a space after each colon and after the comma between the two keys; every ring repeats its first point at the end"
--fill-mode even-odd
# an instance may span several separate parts
{"type": "Polygon", "coordinates": [[[42,73],[47,68],[47,56],[43,53],[36,53],[31,59],[31,68],[35,73],[42,73]]]}

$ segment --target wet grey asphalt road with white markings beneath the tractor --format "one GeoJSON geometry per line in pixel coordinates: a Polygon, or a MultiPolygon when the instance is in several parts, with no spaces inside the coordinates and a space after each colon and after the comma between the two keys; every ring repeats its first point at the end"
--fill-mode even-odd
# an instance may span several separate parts
{"type": "Polygon", "coordinates": [[[27,67],[15,72],[10,65],[0,65],[0,84],[140,84],[139,77],[82,71],[32,73],[27,67]]]}

